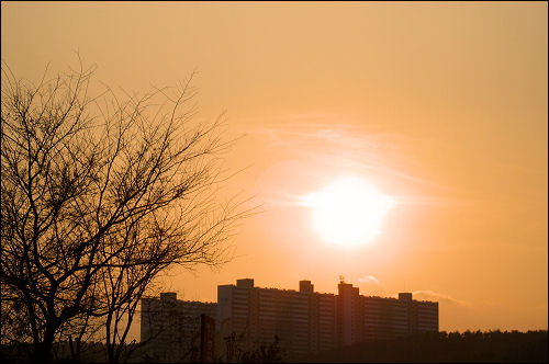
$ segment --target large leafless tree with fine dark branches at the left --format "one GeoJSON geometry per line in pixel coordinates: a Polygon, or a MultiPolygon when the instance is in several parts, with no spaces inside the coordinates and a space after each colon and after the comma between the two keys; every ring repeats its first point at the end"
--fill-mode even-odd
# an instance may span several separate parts
{"type": "Polygon", "coordinates": [[[31,342],[40,361],[55,340],[83,338],[90,319],[104,320],[109,360],[120,360],[154,278],[226,261],[249,213],[214,200],[232,141],[221,118],[194,122],[192,77],[122,101],[110,89],[91,98],[92,73],[35,86],[2,65],[2,340],[31,342]]]}

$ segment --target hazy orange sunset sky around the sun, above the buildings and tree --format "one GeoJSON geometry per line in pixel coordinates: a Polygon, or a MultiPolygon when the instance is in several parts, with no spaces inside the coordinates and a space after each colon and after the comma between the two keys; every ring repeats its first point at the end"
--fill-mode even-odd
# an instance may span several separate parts
{"type": "Polygon", "coordinates": [[[547,2],[1,4],[1,56],[37,80],[78,64],[143,92],[199,73],[198,120],[238,137],[220,193],[254,195],[219,284],[440,303],[440,330],[548,328],[547,2]],[[392,201],[369,241],[327,241],[306,196],[345,178],[392,201]]]}

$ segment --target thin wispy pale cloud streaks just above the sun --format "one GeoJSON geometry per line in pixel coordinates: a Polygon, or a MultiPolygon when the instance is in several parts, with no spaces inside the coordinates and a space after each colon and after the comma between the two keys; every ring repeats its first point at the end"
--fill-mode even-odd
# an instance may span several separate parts
{"type": "Polygon", "coordinates": [[[281,115],[269,126],[250,128],[247,134],[320,169],[337,168],[446,190],[410,172],[416,166],[407,151],[418,140],[394,133],[388,125],[345,120],[345,115],[334,114],[281,115]]]}

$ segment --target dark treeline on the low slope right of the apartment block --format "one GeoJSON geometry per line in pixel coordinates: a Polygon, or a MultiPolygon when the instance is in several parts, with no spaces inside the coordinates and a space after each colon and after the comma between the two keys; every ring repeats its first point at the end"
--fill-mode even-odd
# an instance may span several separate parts
{"type": "Polygon", "coordinates": [[[418,333],[357,343],[300,362],[529,362],[547,363],[547,330],[418,333]]]}

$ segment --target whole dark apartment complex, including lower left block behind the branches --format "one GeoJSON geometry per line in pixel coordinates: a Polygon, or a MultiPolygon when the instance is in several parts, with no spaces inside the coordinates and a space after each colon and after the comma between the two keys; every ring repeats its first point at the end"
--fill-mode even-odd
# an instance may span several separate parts
{"type": "MultiPolygon", "coordinates": [[[[215,319],[213,357],[235,361],[274,341],[284,360],[358,342],[438,331],[438,303],[362,296],[341,281],[337,295],[314,292],[311,281],[299,291],[256,287],[253,278],[217,286],[217,303],[178,300],[175,293],[142,300],[142,332],[154,361],[198,360],[201,315],[215,319]]],[[[204,318],[202,317],[202,320],[204,318]]],[[[204,337],[204,335],[202,335],[204,337]]],[[[202,353],[202,355],[204,355],[202,353]]]]}

